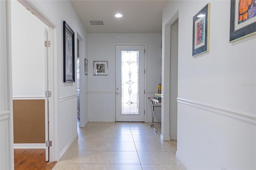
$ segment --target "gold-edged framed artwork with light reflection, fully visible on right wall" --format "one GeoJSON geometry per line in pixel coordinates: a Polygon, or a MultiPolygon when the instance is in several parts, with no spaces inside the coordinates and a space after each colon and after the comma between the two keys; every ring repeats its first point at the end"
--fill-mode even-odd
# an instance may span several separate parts
{"type": "Polygon", "coordinates": [[[210,3],[193,17],[193,57],[209,51],[210,3]]]}

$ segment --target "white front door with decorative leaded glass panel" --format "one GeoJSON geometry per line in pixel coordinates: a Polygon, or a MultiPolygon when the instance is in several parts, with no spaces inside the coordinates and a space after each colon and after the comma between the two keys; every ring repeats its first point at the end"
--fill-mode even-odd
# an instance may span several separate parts
{"type": "Polygon", "coordinates": [[[116,121],[144,121],[145,45],[116,45],[116,121]]]}

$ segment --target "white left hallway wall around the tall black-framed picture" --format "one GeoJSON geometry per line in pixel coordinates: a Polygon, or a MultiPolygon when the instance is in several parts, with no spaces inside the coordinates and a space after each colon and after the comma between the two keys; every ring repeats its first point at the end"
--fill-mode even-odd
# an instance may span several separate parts
{"type": "MultiPolygon", "coordinates": [[[[64,154],[65,150],[72,143],[72,140],[74,140],[74,138],[77,136],[77,84],[63,82],[63,21],[66,21],[75,32],[75,56],[77,38],[76,33],[78,32],[80,37],[83,39],[83,41],[80,42],[80,48],[83,49],[82,54],[80,54],[81,60],[83,60],[84,57],[87,58],[87,32],[79,17],[77,16],[74,8],[70,4],[70,1],[37,0],[33,1],[33,3],[35,3],[36,6],[38,6],[38,8],[42,10],[44,14],[56,25],[53,30],[53,46],[55,45],[54,47],[56,47],[56,50],[54,51],[54,56],[52,56],[54,60],[54,63],[52,63],[54,75],[52,76],[54,80],[57,79],[56,83],[54,83],[56,89],[53,89],[54,94],[57,96],[52,97],[56,97],[58,100],[54,105],[54,107],[56,107],[55,111],[57,112],[54,113],[54,117],[57,119],[56,122],[54,122],[54,127],[57,128],[57,134],[55,134],[55,140],[52,142],[54,146],[58,146],[58,153],[55,155],[55,160],[59,160],[60,156],[64,154]]],[[[83,63],[81,63],[80,69],[84,69],[83,63]]],[[[86,91],[85,86],[87,85],[87,79],[84,78],[83,80],[85,85],[84,87],[80,87],[80,90],[84,88],[84,91],[86,91]]],[[[80,99],[83,97],[85,97],[85,95],[81,95],[80,99]]],[[[84,105],[86,105],[85,99],[81,99],[81,101],[84,101],[84,105]]],[[[84,112],[86,113],[86,111],[84,112]]],[[[83,121],[84,125],[86,125],[88,122],[86,117],[87,115],[84,116],[84,120],[80,120],[81,122],[83,121]]]]}

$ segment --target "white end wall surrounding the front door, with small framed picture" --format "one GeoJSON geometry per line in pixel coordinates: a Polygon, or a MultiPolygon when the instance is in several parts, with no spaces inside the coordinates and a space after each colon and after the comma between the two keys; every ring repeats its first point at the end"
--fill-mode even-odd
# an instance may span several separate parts
{"type": "MultiPolygon", "coordinates": [[[[161,34],[88,34],[89,121],[115,121],[114,43],[147,44],[146,97],[153,97],[157,93],[161,81],[161,34]],[[93,61],[108,61],[108,76],[94,76],[93,61]]],[[[145,121],[150,122],[150,101],[147,100],[146,104],[145,121]]],[[[160,109],[156,109],[155,113],[155,121],[160,121],[160,109]]]]}

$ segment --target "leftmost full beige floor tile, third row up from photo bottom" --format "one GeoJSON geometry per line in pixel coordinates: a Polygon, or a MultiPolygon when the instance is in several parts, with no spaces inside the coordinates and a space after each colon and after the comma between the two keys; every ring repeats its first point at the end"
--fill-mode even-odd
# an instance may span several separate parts
{"type": "Polygon", "coordinates": [[[80,142],[77,150],[106,151],[107,142],[80,142]]]}

